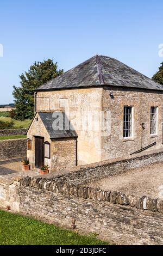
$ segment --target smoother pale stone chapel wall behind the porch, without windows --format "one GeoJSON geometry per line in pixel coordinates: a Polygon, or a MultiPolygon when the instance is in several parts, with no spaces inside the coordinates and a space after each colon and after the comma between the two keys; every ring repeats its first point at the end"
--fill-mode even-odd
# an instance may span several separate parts
{"type": "MultiPolygon", "coordinates": [[[[102,110],[102,90],[102,88],[85,88],[37,92],[37,112],[65,111],[70,119],[78,135],[79,165],[102,161],[101,131],[89,127],[91,114],[98,114],[102,110]]],[[[96,117],[95,120],[97,121],[96,117]]]]}

